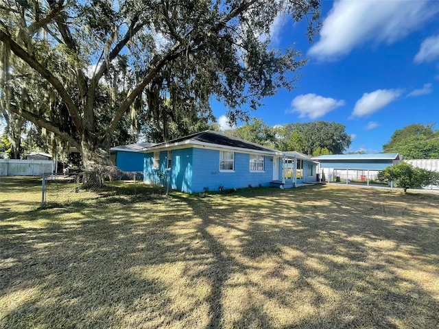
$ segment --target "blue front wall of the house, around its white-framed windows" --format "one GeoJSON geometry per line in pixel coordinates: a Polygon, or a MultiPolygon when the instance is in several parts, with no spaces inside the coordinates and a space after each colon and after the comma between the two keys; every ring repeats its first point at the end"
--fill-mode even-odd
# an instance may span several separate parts
{"type": "Polygon", "coordinates": [[[252,186],[270,186],[273,178],[273,157],[264,156],[264,171],[250,172],[250,154],[235,151],[235,170],[219,171],[219,150],[193,148],[192,191],[218,191],[219,186],[229,188],[245,188],[252,186]]]}

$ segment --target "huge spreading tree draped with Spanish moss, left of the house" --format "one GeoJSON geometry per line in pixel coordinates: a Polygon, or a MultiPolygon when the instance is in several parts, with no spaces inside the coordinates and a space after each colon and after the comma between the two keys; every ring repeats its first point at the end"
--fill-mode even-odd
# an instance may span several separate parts
{"type": "Polygon", "coordinates": [[[261,36],[270,36],[278,14],[289,14],[295,22],[307,17],[311,39],[319,7],[319,0],[5,0],[3,105],[78,147],[86,181],[102,185],[106,150],[124,117],[146,112],[166,136],[176,116],[209,112],[211,95],[236,121],[248,117],[245,104],[257,108],[278,88],[292,88],[289,72],[306,60],[293,48],[271,49],[261,36]],[[12,90],[14,80],[21,88],[12,90]],[[16,106],[12,91],[21,95],[30,84],[49,102],[16,106]],[[109,120],[97,99],[103,85],[112,87],[109,120]]]}

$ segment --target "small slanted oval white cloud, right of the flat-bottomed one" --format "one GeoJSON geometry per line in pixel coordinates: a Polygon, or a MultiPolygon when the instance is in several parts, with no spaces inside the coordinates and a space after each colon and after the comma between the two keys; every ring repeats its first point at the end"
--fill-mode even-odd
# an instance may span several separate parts
{"type": "Polygon", "coordinates": [[[378,89],[372,93],[364,93],[352,112],[352,117],[365,117],[377,112],[401,95],[399,89],[378,89]]]}

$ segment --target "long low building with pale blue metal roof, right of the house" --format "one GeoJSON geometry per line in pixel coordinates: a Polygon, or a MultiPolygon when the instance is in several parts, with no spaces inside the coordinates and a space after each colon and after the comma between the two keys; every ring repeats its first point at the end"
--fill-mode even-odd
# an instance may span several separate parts
{"type": "Polygon", "coordinates": [[[333,154],[311,158],[319,162],[322,180],[346,183],[351,181],[369,182],[375,180],[379,171],[398,164],[403,156],[392,154],[333,154]]]}

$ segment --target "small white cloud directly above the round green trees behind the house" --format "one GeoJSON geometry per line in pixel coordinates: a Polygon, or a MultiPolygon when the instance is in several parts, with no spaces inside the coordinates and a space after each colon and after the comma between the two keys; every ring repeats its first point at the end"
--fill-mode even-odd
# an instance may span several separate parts
{"type": "Polygon", "coordinates": [[[292,109],[287,110],[287,113],[298,112],[300,118],[317,119],[335,108],[344,106],[344,100],[307,94],[295,97],[291,102],[291,106],[292,109]]]}

